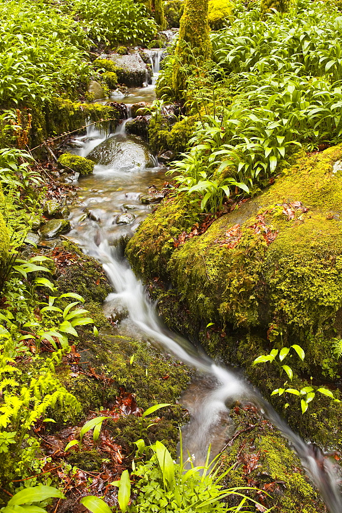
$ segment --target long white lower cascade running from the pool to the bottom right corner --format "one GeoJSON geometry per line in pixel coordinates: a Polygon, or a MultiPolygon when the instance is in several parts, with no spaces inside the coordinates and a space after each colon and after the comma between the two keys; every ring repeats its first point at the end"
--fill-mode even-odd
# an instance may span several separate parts
{"type": "Polygon", "coordinates": [[[81,245],[102,263],[115,290],[110,294],[111,300],[115,298],[129,312],[130,326],[135,326],[143,338],[161,346],[187,365],[195,367],[211,386],[210,390],[207,389],[202,394],[196,411],[191,412],[195,415],[186,426],[183,438],[184,446],[190,453],[195,453],[196,463],[201,464],[201,460],[205,460],[207,447],[220,419],[229,419],[229,406],[236,401],[252,404],[288,440],[330,513],[341,513],[342,495],[333,461],[318,447],[305,443],[296,435],[260,392],[236,371],[215,364],[189,341],[168,331],[158,318],[155,304],[147,297],[129,264],[122,259],[120,248],[110,246],[105,232],[100,232],[100,237],[97,233],[97,236],[97,244],[87,241],[86,244],[81,242],[81,245]],[[187,434],[190,436],[186,436],[187,434]]]}

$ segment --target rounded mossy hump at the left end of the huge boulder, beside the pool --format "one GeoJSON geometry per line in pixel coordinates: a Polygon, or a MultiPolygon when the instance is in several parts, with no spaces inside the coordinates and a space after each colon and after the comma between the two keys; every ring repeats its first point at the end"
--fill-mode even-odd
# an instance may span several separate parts
{"type": "Polygon", "coordinates": [[[183,194],[169,195],[139,226],[126,247],[133,269],[146,277],[166,277],[166,265],[174,250],[174,237],[199,220],[194,204],[183,194]]]}

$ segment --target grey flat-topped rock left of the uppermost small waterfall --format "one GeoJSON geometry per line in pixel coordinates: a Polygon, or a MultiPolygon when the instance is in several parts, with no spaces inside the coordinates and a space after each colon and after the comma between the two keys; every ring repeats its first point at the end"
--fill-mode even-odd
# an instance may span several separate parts
{"type": "Polygon", "coordinates": [[[111,61],[114,61],[118,67],[116,74],[120,84],[128,87],[142,87],[144,82],[152,83],[152,73],[139,53],[112,55],[111,61]]]}

